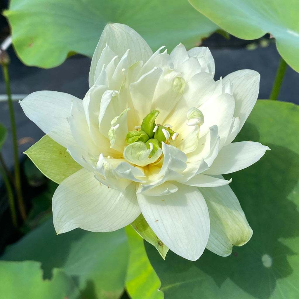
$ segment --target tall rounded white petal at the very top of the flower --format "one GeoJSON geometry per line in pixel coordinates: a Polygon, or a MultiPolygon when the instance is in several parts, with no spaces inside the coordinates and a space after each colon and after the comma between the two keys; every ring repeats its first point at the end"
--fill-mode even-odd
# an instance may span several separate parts
{"type": "Polygon", "coordinates": [[[153,54],[147,42],[129,26],[117,23],[107,24],[91,60],[89,71],[90,87],[94,84],[94,73],[97,62],[101,57],[103,49],[106,47],[106,43],[120,57],[129,49],[129,65],[134,64],[138,60],[147,61],[153,54]]]}

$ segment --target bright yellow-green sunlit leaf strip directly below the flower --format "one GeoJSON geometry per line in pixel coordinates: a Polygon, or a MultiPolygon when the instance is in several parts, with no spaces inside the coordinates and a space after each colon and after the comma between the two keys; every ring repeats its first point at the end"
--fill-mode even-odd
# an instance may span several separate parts
{"type": "Polygon", "coordinates": [[[132,226],[126,227],[130,257],[126,276],[126,289],[132,299],[163,299],[159,291],[161,281],[149,263],[143,239],[132,226]]]}

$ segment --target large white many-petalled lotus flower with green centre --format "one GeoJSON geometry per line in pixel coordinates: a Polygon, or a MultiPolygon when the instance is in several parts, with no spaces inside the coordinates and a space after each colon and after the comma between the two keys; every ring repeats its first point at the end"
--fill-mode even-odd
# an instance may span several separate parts
{"type": "Polygon", "coordinates": [[[21,102],[83,167],[53,196],[54,226],[114,231],[142,213],[182,257],[197,260],[205,248],[226,256],[252,235],[221,175],[268,149],[231,143],[257,100],[260,75],[241,70],[215,82],[208,48],[163,48],[153,53],[128,26],[107,25],[83,100],[39,91],[21,102]]]}

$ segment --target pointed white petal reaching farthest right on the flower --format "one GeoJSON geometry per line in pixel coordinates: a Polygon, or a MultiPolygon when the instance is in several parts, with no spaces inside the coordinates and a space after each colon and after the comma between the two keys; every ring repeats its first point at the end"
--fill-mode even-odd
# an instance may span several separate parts
{"type": "Polygon", "coordinates": [[[210,169],[205,174],[225,174],[244,169],[263,157],[269,147],[253,141],[234,142],[226,145],[218,153],[210,169]]]}

